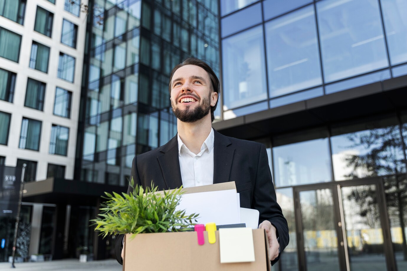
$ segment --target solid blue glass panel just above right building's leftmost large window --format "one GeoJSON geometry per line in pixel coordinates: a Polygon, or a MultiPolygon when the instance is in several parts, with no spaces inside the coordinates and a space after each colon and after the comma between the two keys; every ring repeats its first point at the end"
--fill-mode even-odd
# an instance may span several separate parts
{"type": "Polygon", "coordinates": [[[261,23],[261,4],[255,4],[221,20],[222,37],[261,23]]]}

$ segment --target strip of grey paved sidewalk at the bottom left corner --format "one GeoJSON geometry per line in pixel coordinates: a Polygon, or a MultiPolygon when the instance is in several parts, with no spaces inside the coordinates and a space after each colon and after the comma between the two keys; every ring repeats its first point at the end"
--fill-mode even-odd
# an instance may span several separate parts
{"type": "Polygon", "coordinates": [[[0,262],[1,271],[121,271],[122,266],[116,260],[98,260],[79,262],[79,259],[53,260],[49,262],[16,262],[15,268],[11,263],[0,262]]]}

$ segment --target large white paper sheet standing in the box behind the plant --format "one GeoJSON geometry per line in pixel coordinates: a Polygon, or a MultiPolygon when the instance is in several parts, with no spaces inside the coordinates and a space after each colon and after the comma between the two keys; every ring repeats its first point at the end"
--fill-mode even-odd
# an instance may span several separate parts
{"type": "Polygon", "coordinates": [[[177,210],[186,214],[199,213],[199,224],[214,222],[216,225],[240,223],[236,190],[200,192],[182,195],[177,210]]]}

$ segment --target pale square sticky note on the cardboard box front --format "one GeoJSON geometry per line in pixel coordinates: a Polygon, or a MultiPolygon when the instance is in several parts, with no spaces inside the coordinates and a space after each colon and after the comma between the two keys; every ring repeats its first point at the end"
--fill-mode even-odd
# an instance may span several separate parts
{"type": "Polygon", "coordinates": [[[253,232],[251,228],[220,228],[221,263],[254,262],[253,232]]]}

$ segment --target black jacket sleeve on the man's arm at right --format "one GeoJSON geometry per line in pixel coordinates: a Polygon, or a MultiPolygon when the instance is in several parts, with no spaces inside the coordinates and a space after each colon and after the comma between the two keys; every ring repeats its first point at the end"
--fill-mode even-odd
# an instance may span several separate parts
{"type": "Polygon", "coordinates": [[[282,214],[280,205],[277,203],[271,171],[265,145],[261,144],[258,156],[258,166],[254,183],[252,208],[259,211],[259,224],[265,220],[271,222],[277,230],[280,242],[280,254],[271,262],[274,264],[280,258],[281,252],[288,245],[289,234],[287,220],[282,214]]]}

